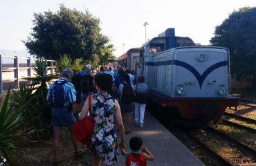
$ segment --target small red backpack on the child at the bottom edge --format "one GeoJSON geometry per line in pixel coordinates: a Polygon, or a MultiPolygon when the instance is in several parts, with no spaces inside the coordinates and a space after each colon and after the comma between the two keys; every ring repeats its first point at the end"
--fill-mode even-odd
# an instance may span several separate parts
{"type": "Polygon", "coordinates": [[[142,152],[140,152],[139,154],[131,153],[127,157],[125,165],[126,166],[146,166],[147,162],[142,152]]]}

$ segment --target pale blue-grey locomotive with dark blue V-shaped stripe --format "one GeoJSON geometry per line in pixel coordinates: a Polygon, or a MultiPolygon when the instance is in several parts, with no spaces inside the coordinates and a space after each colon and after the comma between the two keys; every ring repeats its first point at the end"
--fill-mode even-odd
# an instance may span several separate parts
{"type": "Polygon", "coordinates": [[[148,103],[175,112],[179,122],[208,125],[227,107],[238,106],[239,98],[230,95],[228,48],[201,46],[167,28],[138,52],[138,63],[129,69],[136,71],[136,77],[145,77],[148,103]]]}

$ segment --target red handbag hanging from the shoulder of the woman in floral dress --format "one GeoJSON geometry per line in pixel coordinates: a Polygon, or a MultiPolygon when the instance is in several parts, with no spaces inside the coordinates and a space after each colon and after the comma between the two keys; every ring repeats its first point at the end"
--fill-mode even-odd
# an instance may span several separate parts
{"type": "Polygon", "coordinates": [[[76,140],[84,145],[88,144],[88,138],[91,136],[94,129],[93,117],[91,116],[91,95],[89,95],[89,114],[90,115],[83,120],[75,122],[71,127],[76,140]]]}

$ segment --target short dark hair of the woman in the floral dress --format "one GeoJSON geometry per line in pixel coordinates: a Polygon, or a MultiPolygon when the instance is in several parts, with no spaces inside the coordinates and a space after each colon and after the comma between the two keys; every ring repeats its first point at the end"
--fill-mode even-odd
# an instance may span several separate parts
{"type": "Polygon", "coordinates": [[[102,91],[110,91],[113,84],[113,77],[107,73],[100,73],[95,75],[95,85],[102,91]]]}

